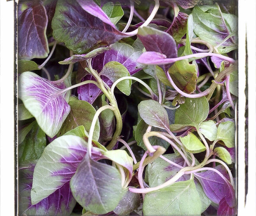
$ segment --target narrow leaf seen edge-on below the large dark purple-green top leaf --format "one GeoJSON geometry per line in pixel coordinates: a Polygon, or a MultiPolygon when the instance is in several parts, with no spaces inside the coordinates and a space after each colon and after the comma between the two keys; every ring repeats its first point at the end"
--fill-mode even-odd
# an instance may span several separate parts
{"type": "Polygon", "coordinates": [[[109,50],[109,47],[100,47],[97,48],[95,50],[92,50],[91,52],[88,52],[87,54],[81,54],[81,55],[72,55],[71,57],[63,60],[63,61],[59,61],[59,64],[72,64],[72,63],[76,63],[79,61],[84,61],[90,58],[95,57],[96,55],[105,52],[106,50],[109,50]]]}

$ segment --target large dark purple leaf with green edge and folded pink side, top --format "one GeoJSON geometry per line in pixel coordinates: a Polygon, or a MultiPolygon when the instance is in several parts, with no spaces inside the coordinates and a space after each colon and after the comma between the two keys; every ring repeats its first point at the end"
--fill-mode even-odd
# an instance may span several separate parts
{"type": "Polygon", "coordinates": [[[58,1],[53,37],[76,54],[90,52],[128,37],[118,31],[102,9],[90,0],[58,1]]]}

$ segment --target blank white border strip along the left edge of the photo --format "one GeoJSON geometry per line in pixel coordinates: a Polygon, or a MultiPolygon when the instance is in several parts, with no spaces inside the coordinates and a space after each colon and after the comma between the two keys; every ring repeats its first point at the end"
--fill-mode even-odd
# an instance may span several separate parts
{"type": "Polygon", "coordinates": [[[0,215],[14,215],[14,1],[0,1],[0,215]]]}

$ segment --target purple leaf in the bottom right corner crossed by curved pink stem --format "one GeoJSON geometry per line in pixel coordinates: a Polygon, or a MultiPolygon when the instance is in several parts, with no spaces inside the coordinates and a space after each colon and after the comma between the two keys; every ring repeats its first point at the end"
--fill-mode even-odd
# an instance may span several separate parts
{"type": "MultiPolygon", "coordinates": [[[[224,177],[229,180],[229,175],[222,165],[215,167],[224,177]]],[[[224,181],[217,172],[208,170],[197,173],[197,179],[200,181],[203,190],[214,203],[219,204],[220,200],[225,197],[229,206],[235,206],[235,190],[230,183],[224,181]]]]}

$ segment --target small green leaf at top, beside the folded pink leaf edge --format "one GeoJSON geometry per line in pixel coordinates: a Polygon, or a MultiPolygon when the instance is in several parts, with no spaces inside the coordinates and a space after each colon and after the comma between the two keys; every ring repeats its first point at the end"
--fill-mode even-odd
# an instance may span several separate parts
{"type": "Polygon", "coordinates": [[[124,15],[124,11],[119,2],[116,2],[115,4],[108,2],[102,6],[102,10],[108,15],[114,25],[116,25],[124,15]]]}

